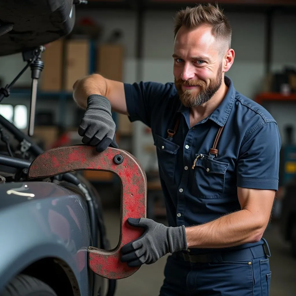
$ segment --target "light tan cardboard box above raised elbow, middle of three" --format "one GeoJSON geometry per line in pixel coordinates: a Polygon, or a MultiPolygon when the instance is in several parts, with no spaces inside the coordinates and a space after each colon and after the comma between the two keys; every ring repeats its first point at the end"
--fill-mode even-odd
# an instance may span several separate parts
{"type": "Polygon", "coordinates": [[[90,44],[87,39],[68,40],[65,44],[65,90],[73,91],[76,80],[89,75],[90,44]]]}

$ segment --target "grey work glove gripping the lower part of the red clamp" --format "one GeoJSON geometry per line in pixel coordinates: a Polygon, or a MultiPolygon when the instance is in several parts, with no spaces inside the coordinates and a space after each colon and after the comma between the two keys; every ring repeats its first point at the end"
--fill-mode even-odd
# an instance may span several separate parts
{"type": "Polygon", "coordinates": [[[143,227],[138,239],[121,248],[121,261],[129,267],[155,263],[167,253],[187,250],[185,226],[167,227],[147,218],[128,218],[128,224],[143,227]]]}

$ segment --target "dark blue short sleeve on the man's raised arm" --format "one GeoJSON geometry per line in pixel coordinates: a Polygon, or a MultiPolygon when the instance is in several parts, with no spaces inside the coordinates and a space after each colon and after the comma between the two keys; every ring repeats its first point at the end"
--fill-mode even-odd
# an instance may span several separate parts
{"type": "Polygon", "coordinates": [[[174,94],[173,83],[140,82],[124,83],[129,119],[142,121],[151,127],[152,112],[162,112],[167,98],[174,94]]]}

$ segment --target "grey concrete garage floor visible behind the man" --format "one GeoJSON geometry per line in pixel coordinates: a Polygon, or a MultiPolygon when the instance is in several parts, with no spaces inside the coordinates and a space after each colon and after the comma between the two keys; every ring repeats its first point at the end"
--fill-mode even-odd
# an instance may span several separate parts
{"type": "MultiPolygon", "coordinates": [[[[119,212],[107,210],[104,212],[104,218],[108,238],[111,247],[114,248],[119,239],[119,212]]],[[[158,222],[165,223],[165,221],[158,222]]],[[[270,225],[264,237],[268,240],[272,254],[270,296],[295,296],[296,260],[291,257],[289,246],[282,241],[276,225],[270,225]]],[[[115,296],[157,296],[163,283],[166,257],[160,258],[154,264],[143,265],[132,276],[118,280],[115,296]]]]}

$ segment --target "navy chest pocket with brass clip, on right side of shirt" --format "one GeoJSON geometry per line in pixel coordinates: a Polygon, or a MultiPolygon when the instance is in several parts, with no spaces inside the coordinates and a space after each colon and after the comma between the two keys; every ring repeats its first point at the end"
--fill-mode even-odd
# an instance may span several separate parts
{"type": "Polygon", "coordinates": [[[194,168],[192,194],[204,199],[222,197],[228,167],[229,163],[222,163],[207,155],[200,157],[194,168]]]}

